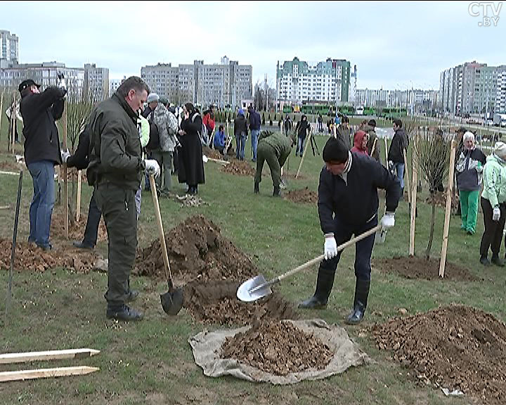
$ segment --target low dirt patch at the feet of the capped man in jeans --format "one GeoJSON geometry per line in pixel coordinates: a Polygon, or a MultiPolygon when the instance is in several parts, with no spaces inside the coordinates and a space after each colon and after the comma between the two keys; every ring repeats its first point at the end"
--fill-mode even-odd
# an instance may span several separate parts
{"type": "MultiPolygon", "coordinates": [[[[0,269],[11,268],[12,241],[0,238],[0,269]]],[[[93,269],[96,261],[92,252],[76,253],[75,249],[62,250],[53,246],[50,252],[44,252],[31,243],[16,242],[14,269],[30,271],[46,271],[63,267],[87,273],[93,269]]]]}

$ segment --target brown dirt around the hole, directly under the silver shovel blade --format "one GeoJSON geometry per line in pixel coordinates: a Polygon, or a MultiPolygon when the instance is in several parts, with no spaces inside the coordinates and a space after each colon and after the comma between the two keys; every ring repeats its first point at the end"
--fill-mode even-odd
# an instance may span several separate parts
{"type": "Polygon", "coordinates": [[[297,319],[290,302],[273,293],[255,302],[242,302],[236,297],[240,282],[193,282],[184,289],[184,307],[204,323],[251,325],[264,319],[297,319]]]}

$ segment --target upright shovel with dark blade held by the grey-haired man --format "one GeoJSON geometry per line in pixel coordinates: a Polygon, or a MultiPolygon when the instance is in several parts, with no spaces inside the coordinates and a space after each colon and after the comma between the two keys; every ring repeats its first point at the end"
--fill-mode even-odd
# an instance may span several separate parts
{"type": "Polygon", "coordinates": [[[167,255],[167,245],[165,245],[165,236],[162,225],[162,215],[160,214],[160,205],[158,204],[158,195],[156,191],[155,176],[150,174],[151,195],[153,195],[153,205],[155,206],[155,215],[158,225],[158,233],[160,236],[160,245],[162,246],[162,257],[164,259],[165,277],[167,278],[167,285],[169,291],[160,295],[162,301],[162,308],[167,315],[177,315],[183,307],[183,290],[181,288],[174,288],[172,281],[172,274],[170,271],[169,255],[167,255]]]}

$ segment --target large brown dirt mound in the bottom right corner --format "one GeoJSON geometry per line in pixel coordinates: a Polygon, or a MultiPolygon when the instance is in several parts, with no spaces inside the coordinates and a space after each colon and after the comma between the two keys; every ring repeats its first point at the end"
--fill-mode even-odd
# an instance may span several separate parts
{"type": "Polygon", "coordinates": [[[506,404],[506,324],[453,305],[371,328],[379,349],[413,368],[422,384],[460,390],[483,404],[506,404]]]}

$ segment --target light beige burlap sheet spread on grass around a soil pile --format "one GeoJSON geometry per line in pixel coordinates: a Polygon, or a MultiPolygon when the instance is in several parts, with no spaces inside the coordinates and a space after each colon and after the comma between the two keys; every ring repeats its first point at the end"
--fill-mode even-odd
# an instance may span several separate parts
{"type": "Polygon", "coordinates": [[[322,319],[290,322],[306,333],[313,333],[330,347],[334,356],[327,367],[321,370],[310,368],[301,373],[274,375],[246,364],[240,364],[233,359],[221,359],[219,357],[221,355],[221,345],[223,345],[225,339],[234,336],[236,333],[244,332],[249,326],[232,330],[216,330],[215,332],[204,330],[188,339],[188,342],[193,349],[195,363],[202,367],[204,374],[209,377],[233,375],[243,380],[268,382],[275,385],[295,384],[302,380],[320,380],[330,377],[330,375],[343,373],[351,366],[360,366],[370,362],[369,356],[362,352],[358,345],[349,338],[344,328],[337,325],[329,326],[322,319]]]}

